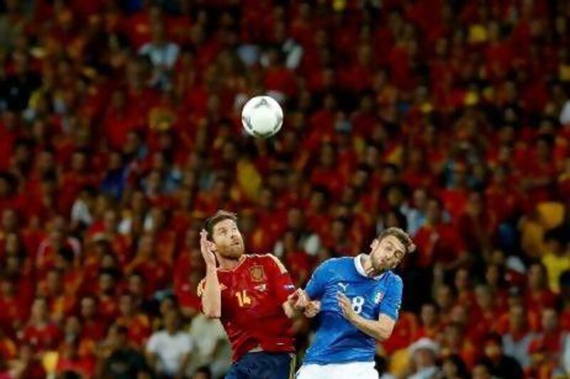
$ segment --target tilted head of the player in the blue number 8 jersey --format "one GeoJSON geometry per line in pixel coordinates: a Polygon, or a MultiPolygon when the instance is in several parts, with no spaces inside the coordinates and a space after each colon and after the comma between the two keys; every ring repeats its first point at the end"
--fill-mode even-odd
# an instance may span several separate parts
{"type": "Polygon", "coordinates": [[[408,252],[415,250],[415,245],[408,233],[400,228],[383,230],[372,241],[370,247],[372,267],[378,272],[395,268],[408,252]]]}

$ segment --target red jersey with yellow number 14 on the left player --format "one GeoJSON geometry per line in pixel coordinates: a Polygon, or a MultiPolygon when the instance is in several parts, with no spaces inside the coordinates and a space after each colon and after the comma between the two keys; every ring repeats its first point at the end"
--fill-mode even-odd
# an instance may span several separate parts
{"type": "MultiPolygon", "coordinates": [[[[233,269],[217,269],[222,287],[220,321],[238,361],[254,348],[293,352],[291,321],[282,304],[295,287],[285,267],[274,255],[243,255],[233,269]]],[[[205,278],[198,284],[204,293],[205,278]]]]}

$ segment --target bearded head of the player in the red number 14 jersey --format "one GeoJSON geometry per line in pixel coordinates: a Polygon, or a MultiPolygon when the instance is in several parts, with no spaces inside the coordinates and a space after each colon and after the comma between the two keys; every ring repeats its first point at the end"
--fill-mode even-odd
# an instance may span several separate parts
{"type": "Polygon", "coordinates": [[[208,240],[214,242],[215,252],[223,258],[236,259],[244,254],[244,238],[237,228],[237,216],[225,210],[206,220],[204,229],[208,240]]]}

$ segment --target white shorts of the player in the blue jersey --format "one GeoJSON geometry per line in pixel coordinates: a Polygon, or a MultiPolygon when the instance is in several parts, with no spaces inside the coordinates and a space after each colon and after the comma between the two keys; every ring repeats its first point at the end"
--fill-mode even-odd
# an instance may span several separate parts
{"type": "Polygon", "coordinates": [[[374,362],[333,363],[330,365],[302,365],[296,379],[378,379],[374,362]]]}

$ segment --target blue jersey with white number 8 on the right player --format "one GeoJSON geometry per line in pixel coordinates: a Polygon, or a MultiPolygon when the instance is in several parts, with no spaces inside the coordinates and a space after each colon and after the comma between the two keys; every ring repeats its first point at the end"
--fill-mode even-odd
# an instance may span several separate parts
{"type": "Polygon", "coordinates": [[[351,300],[354,311],[365,319],[378,320],[380,314],[398,319],[402,302],[402,279],[391,271],[376,278],[366,276],[358,257],[333,258],[323,262],[306,286],[311,300],[321,301],[314,343],[304,363],[374,361],[375,338],[356,329],[342,314],[337,292],[351,300]]]}

